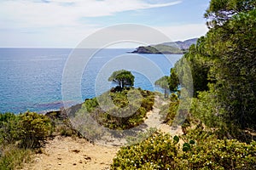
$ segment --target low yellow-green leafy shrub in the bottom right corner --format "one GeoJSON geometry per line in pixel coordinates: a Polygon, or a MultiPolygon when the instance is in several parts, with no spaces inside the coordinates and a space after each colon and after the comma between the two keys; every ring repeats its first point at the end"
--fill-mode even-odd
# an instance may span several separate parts
{"type": "Polygon", "coordinates": [[[191,146],[181,157],[189,169],[255,169],[256,143],[211,139],[191,146]]]}

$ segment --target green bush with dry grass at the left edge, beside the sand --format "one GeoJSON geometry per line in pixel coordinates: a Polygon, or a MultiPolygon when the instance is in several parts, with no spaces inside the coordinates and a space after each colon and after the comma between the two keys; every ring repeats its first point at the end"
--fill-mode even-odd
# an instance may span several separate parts
{"type": "Polygon", "coordinates": [[[51,132],[47,116],[29,111],[0,114],[0,169],[20,167],[51,132]]]}

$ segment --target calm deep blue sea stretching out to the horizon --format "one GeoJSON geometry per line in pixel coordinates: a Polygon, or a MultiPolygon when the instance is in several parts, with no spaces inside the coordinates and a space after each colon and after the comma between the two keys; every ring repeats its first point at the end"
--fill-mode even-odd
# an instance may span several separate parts
{"type": "MultiPolygon", "coordinates": [[[[73,49],[70,48],[0,48],[0,112],[44,112],[60,109],[63,105],[61,94],[63,71],[67,68],[65,66],[68,65],[67,61],[72,51],[73,49]]],[[[127,54],[127,51],[132,49],[106,48],[90,56],[90,61],[84,66],[80,77],[81,99],[73,99],[71,95],[68,102],[74,105],[80,100],[95,97],[96,94],[111,88],[113,84],[110,82],[101,82],[105,79],[108,82],[111,74],[108,72],[111,70],[109,68],[114,69],[117,65],[117,68],[129,69],[131,66],[127,66],[128,63],[135,68],[131,70],[135,76],[135,87],[160,90],[154,87],[154,81],[160,78],[156,68],[160,68],[163,75],[169,75],[170,68],[182,56],[127,54]],[[129,57],[131,59],[127,61],[129,57]],[[148,65],[145,61],[153,65],[148,65]],[[151,76],[153,78],[150,79],[151,76]]],[[[80,57],[88,57],[86,55],[83,50],[80,57]]]]}

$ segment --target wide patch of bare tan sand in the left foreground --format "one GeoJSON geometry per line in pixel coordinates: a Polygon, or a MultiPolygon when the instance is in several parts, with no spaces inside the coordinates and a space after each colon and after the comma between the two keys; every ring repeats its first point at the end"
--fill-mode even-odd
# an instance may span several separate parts
{"type": "Polygon", "coordinates": [[[49,140],[43,150],[43,154],[35,155],[23,169],[109,169],[119,148],[91,144],[85,139],[57,136],[49,140]]]}

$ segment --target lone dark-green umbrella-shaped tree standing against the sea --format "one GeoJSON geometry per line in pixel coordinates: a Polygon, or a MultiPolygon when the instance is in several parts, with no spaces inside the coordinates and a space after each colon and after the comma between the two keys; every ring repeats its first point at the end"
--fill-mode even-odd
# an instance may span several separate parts
{"type": "Polygon", "coordinates": [[[108,81],[118,83],[120,88],[125,88],[125,86],[132,87],[134,85],[134,76],[131,71],[113,71],[108,81]]]}

